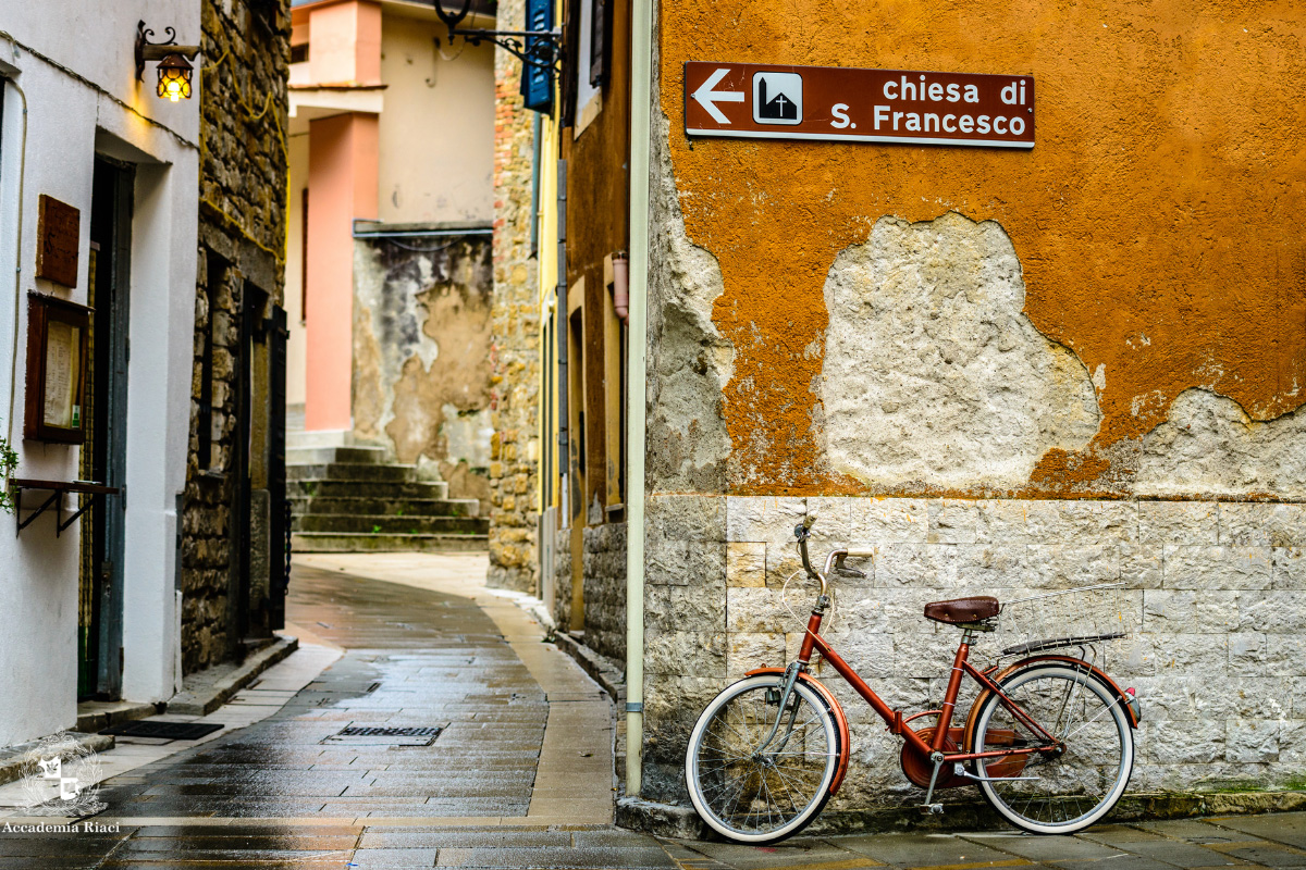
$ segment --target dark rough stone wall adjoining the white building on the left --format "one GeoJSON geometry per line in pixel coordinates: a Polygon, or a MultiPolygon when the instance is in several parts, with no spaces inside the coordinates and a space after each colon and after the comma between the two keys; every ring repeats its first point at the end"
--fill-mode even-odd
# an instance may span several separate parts
{"type": "MultiPolygon", "coordinates": [[[[191,389],[191,441],[182,506],[182,656],[192,673],[238,653],[242,614],[231,591],[239,588],[232,547],[238,481],[230,473],[238,428],[236,346],[247,287],[266,295],[266,308],[282,303],[286,214],[286,82],[290,64],[290,10],[286,0],[204,0],[196,69],[200,112],[200,257],[195,308],[195,361],[191,389]],[[212,274],[209,262],[223,269],[212,274]],[[205,337],[212,334],[210,462],[200,466],[201,395],[205,337]]],[[[265,309],[260,312],[266,316],[265,309]]],[[[253,352],[265,353],[265,344],[253,352]]],[[[249,421],[256,455],[249,457],[252,511],[268,503],[265,364],[249,360],[255,400],[249,421]],[[263,402],[257,400],[263,399],[263,402]],[[261,490],[261,493],[260,493],[261,490]]],[[[251,518],[251,535],[266,536],[263,517],[251,518]]],[[[248,543],[255,553],[268,541],[248,543]]],[[[266,560],[264,560],[266,562],[266,560]]],[[[257,560],[253,560],[257,565],[257,560]]],[[[251,634],[269,631],[266,578],[251,578],[251,634]]]]}

